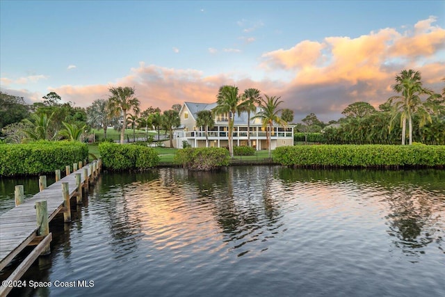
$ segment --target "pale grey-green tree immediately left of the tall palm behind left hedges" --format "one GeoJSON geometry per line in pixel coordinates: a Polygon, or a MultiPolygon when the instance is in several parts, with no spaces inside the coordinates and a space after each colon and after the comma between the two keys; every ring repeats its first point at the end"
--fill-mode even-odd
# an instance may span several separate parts
{"type": "Polygon", "coordinates": [[[106,129],[108,126],[115,125],[118,121],[111,115],[108,109],[108,102],[105,99],[97,99],[86,109],[87,124],[95,129],[104,129],[104,138],[106,138],[106,129]]]}

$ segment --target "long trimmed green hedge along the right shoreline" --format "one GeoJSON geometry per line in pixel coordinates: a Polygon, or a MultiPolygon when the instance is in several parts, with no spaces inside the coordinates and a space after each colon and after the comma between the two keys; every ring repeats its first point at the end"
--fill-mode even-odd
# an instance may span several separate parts
{"type": "Polygon", "coordinates": [[[445,145],[298,145],[277,147],[273,159],[285,166],[445,166],[445,145]]]}

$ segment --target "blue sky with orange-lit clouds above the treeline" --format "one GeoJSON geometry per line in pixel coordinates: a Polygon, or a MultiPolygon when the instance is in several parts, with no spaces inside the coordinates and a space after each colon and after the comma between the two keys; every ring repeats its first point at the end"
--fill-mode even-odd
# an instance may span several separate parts
{"type": "Polygon", "coordinates": [[[231,85],[328,122],[378,109],[405,69],[445,87],[445,1],[0,0],[0,90],[29,103],[87,107],[129,86],[164,111],[231,85]]]}

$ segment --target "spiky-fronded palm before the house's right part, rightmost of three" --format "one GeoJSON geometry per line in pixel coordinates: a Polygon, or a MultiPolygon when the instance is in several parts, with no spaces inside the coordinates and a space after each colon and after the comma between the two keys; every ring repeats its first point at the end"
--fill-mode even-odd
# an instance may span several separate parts
{"type": "Polygon", "coordinates": [[[278,109],[278,105],[282,103],[282,101],[279,101],[281,97],[269,97],[268,95],[264,95],[264,97],[265,98],[261,98],[261,102],[259,104],[261,111],[259,111],[259,113],[257,113],[257,115],[255,115],[253,118],[260,118],[262,127],[266,129],[266,140],[270,158],[270,152],[272,150],[270,138],[273,134],[273,122],[280,125],[287,124],[278,115],[278,113],[281,111],[281,109],[278,109]]]}

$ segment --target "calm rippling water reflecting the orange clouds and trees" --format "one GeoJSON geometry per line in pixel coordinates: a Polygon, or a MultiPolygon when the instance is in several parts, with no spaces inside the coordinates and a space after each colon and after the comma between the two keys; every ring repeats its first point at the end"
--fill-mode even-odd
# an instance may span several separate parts
{"type": "MultiPolygon", "coordinates": [[[[104,172],[24,275],[53,286],[11,296],[445,296],[444,181],[445,170],[104,172]]],[[[1,212],[13,186],[0,180],[1,212]]]]}

